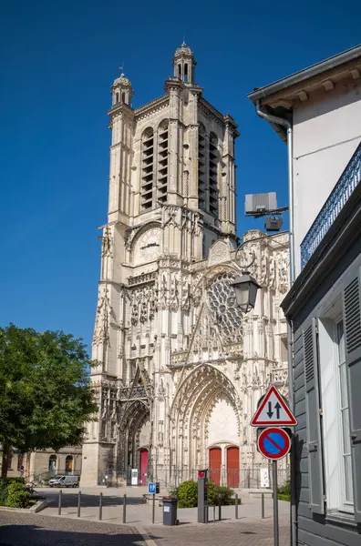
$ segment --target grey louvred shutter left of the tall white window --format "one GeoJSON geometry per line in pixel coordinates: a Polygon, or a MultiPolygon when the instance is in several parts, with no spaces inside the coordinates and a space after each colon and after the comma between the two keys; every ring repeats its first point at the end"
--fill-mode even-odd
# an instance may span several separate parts
{"type": "Polygon", "coordinates": [[[325,513],[325,491],[315,319],[312,319],[311,325],[304,330],[304,387],[307,418],[309,506],[311,511],[323,514],[325,513]]]}

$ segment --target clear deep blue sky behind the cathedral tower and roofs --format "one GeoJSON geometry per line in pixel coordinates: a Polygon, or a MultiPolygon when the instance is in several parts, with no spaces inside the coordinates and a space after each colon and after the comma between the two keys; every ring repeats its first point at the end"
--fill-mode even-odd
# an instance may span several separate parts
{"type": "Polygon", "coordinates": [[[125,62],[134,106],[163,93],[183,35],[204,96],[230,113],[244,194],[286,204],[286,148],[246,94],[361,42],[360,3],[0,3],[0,325],[63,329],[90,344],[108,200],[109,87],[125,62]]]}

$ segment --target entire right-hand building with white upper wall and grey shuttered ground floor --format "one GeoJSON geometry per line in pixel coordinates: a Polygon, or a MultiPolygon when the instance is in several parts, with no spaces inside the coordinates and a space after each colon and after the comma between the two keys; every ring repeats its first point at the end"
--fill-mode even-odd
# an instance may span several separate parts
{"type": "MultiPolygon", "coordinates": [[[[361,543],[361,46],[251,93],[291,125],[296,543],[361,543]]],[[[284,128],[273,127],[285,139],[284,128]]],[[[294,542],[295,543],[295,542],[294,542]]]]}

